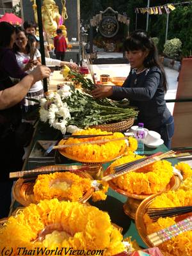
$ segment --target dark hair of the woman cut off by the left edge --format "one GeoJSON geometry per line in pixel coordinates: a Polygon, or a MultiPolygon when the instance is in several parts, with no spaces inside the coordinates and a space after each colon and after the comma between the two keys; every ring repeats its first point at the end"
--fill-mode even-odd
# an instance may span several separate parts
{"type": "Polygon", "coordinates": [[[0,47],[8,47],[15,33],[15,27],[12,24],[2,21],[0,23],[0,47]]]}

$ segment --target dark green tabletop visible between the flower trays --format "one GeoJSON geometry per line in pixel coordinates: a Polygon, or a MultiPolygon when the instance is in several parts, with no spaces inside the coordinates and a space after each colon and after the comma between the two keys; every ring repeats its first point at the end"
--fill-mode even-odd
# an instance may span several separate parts
{"type": "MultiPolygon", "coordinates": [[[[31,141],[31,148],[33,148],[33,146],[35,145],[35,142],[38,140],[61,140],[61,138],[62,138],[62,134],[60,131],[57,131],[52,127],[49,127],[47,124],[39,122],[33,134],[33,140],[31,141]]],[[[161,145],[156,149],[145,147],[145,154],[154,154],[156,152],[166,152],[166,151],[168,151],[168,148],[166,148],[164,145],[161,145]]],[[[172,162],[173,164],[177,163],[176,159],[169,159],[169,161],[172,162]]],[[[73,162],[69,159],[65,158],[63,160],[63,164],[72,164],[72,163],[73,162]]],[[[108,165],[109,163],[103,165],[104,170],[108,167],[108,165]]],[[[35,167],[36,166],[31,166],[30,164],[30,168],[29,168],[29,161],[28,159],[26,159],[23,170],[29,170],[35,167]]],[[[90,204],[97,206],[102,211],[107,211],[109,213],[111,221],[123,228],[122,234],[124,235],[124,237],[131,236],[132,239],[136,239],[136,241],[141,247],[145,248],[146,246],[141,240],[138,234],[138,231],[136,230],[134,221],[131,220],[131,218],[129,218],[129,216],[127,216],[124,213],[123,205],[126,200],[127,198],[124,195],[120,195],[109,188],[108,197],[106,198],[105,201],[93,203],[92,200],[90,200],[89,202],[90,204]]],[[[14,202],[14,204],[12,205],[12,211],[18,206],[19,206],[18,203],[14,202]]]]}

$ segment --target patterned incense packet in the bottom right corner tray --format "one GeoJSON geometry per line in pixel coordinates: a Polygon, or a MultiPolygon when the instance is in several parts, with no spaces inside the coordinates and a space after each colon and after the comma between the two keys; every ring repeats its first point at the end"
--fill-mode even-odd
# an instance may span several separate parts
{"type": "Polygon", "coordinates": [[[175,236],[179,236],[183,232],[192,230],[192,216],[186,218],[185,220],[179,221],[176,224],[164,228],[163,230],[159,230],[158,232],[154,232],[147,236],[148,240],[154,247],[158,246],[159,244],[164,243],[172,239],[175,236]]]}

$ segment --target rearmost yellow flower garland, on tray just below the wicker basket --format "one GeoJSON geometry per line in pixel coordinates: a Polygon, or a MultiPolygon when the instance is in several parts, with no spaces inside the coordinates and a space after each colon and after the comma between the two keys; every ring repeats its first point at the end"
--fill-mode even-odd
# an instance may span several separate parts
{"type": "MultiPolygon", "coordinates": [[[[73,135],[88,135],[88,134],[110,134],[111,132],[101,131],[100,129],[90,129],[74,132],[73,135]]],[[[123,138],[121,132],[114,132],[111,136],[100,136],[95,138],[69,138],[65,144],[81,143],[90,140],[110,140],[115,138],[123,138]]],[[[118,157],[122,148],[125,147],[125,140],[110,141],[103,144],[85,144],[76,147],[65,148],[65,152],[69,156],[78,157],[79,161],[106,161],[118,157]]]]}

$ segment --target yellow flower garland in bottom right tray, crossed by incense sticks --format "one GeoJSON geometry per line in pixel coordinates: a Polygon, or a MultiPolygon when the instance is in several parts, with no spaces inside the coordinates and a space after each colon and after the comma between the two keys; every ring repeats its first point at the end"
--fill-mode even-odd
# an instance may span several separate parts
{"type": "MultiPolygon", "coordinates": [[[[192,205],[192,191],[184,191],[179,189],[178,191],[168,191],[157,196],[150,204],[150,208],[159,207],[176,207],[176,206],[188,206],[192,205]]],[[[148,217],[144,216],[145,226],[147,228],[147,234],[157,232],[166,227],[174,225],[175,217],[173,218],[159,218],[156,222],[148,217]]],[[[177,237],[174,237],[170,241],[167,241],[159,245],[159,248],[164,252],[170,253],[172,256],[191,256],[192,255],[192,230],[184,232],[177,237]]]]}

